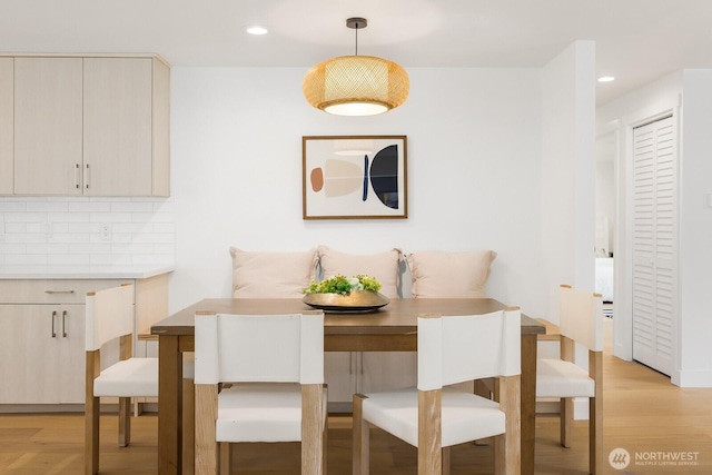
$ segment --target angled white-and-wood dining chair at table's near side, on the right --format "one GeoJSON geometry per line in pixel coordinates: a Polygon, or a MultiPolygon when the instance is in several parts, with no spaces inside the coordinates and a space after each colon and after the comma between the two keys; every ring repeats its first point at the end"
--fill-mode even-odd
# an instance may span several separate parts
{"type": "Polygon", "coordinates": [[[521,471],[521,311],[418,317],[416,388],[354,395],[354,475],[369,473],[370,426],[418,448],[418,474],[449,473],[457,444],[495,437],[495,473],[521,471]],[[498,403],[444,386],[496,377],[498,403]]]}

